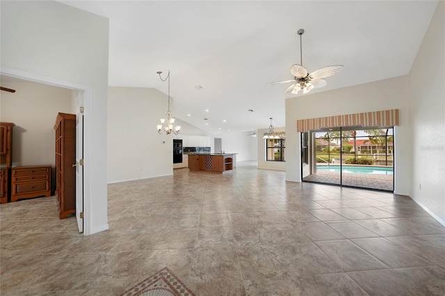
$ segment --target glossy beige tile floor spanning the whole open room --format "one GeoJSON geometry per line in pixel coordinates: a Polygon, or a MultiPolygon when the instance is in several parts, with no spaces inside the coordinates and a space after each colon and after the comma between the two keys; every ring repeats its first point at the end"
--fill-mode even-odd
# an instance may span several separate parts
{"type": "Polygon", "coordinates": [[[197,295],[445,295],[445,228],[409,197],[232,172],[108,186],[110,229],[1,204],[1,295],[120,295],[168,266],[197,295]]]}

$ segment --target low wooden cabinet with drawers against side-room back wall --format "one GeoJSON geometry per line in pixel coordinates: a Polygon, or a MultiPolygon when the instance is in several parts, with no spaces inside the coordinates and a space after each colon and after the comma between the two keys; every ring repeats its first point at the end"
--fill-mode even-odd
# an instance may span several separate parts
{"type": "Polygon", "coordinates": [[[51,165],[13,167],[11,179],[11,202],[51,196],[51,165]]]}

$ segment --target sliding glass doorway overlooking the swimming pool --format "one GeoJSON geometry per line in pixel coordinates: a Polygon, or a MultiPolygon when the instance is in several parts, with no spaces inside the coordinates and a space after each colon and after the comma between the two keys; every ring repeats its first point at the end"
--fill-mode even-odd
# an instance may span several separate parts
{"type": "Polygon", "coordinates": [[[394,192],[394,128],[339,126],[302,133],[302,181],[394,192]],[[307,147],[303,138],[307,138],[307,147]],[[303,174],[304,173],[304,174],[303,174]]]}

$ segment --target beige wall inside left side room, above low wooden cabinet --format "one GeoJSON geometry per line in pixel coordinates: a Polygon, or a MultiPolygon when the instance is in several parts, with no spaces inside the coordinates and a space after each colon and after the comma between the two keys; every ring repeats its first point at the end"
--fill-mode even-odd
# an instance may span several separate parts
{"type": "Polygon", "coordinates": [[[74,113],[73,90],[33,82],[1,81],[0,119],[13,122],[13,166],[55,165],[54,123],[59,112],[74,113]]]}

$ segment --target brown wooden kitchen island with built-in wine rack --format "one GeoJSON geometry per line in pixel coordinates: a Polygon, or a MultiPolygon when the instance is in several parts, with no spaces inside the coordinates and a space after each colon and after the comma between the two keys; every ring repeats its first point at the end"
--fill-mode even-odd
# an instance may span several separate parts
{"type": "Polygon", "coordinates": [[[188,156],[188,170],[222,174],[233,170],[235,154],[193,154],[188,156]]]}

